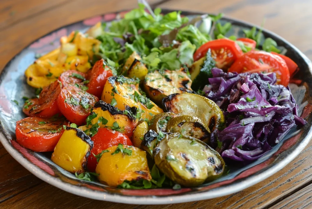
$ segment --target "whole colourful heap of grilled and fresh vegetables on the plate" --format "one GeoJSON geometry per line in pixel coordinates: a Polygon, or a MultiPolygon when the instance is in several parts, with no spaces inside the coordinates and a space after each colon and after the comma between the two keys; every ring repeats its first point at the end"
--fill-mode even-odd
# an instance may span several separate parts
{"type": "Polygon", "coordinates": [[[257,160],[306,124],[288,87],[298,65],[261,30],[227,37],[222,14],[148,11],[73,31],[36,57],[20,145],[82,180],[180,189],[257,160]]]}

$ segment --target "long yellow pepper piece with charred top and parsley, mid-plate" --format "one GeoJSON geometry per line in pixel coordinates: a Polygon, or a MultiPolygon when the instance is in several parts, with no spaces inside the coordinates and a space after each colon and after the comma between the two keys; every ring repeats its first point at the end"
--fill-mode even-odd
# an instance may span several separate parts
{"type": "Polygon", "coordinates": [[[145,96],[139,93],[139,84],[136,80],[124,76],[112,76],[105,83],[101,99],[104,102],[111,103],[116,100],[117,107],[125,110],[126,107],[136,107],[140,111],[140,120],[152,119],[163,110],[154,102],[149,101],[145,96]]]}

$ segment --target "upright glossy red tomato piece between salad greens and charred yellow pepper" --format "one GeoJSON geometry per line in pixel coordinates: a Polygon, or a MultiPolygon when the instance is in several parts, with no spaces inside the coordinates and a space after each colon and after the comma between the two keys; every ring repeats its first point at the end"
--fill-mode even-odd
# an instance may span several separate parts
{"type": "Polygon", "coordinates": [[[87,92],[100,97],[104,89],[106,80],[113,76],[113,71],[106,65],[104,59],[95,62],[90,73],[88,73],[88,90],[87,92]]]}

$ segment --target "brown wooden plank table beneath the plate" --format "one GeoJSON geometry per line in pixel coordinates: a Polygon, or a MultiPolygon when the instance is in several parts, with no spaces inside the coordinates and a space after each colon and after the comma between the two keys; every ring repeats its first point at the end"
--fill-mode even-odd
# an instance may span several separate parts
{"type": "MultiPolygon", "coordinates": [[[[260,25],[312,58],[310,0],[150,0],[153,6],[227,16],[260,25]]],[[[0,69],[28,43],[77,20],[136,7],[135,0],[1,0],[0,69]]],[[[241,192],[176,205],[125,205],[82,198],[51,186],[15,161],[0,144],[0,208],[312,208],[312,141],[294,161],[241,192]]]]}

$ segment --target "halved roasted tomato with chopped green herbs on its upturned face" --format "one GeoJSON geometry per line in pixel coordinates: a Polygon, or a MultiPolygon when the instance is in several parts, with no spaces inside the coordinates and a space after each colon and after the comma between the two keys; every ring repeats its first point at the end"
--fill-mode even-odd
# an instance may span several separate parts
{"type": "Polygon", "coordinates": [[[90,110],[99,99],[75,86],[65,86],[57,98],[61,113],[71,123],[82,125],[90,114],[90,110]]]}

